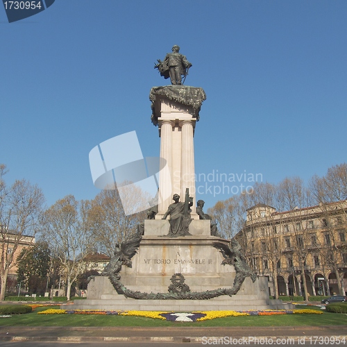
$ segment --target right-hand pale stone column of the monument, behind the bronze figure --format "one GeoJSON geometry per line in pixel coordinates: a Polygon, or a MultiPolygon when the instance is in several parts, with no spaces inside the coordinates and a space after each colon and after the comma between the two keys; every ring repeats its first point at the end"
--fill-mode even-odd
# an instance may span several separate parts
{"type": "Polygon", "coordinates": [[[194,125],[195,120],[180,121],[182,128],[182,171],[181,171],[181,201],[185,199],[185,189],[189,188],[189,196],[193,196],[192,214],[196,214],[196,192],[194,177],[194,125]]]}

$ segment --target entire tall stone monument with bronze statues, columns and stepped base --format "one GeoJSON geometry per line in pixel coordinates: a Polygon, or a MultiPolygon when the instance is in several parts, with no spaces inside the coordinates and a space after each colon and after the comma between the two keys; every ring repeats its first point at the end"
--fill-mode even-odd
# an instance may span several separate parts
{"type": "Polygon", "coordinates": [[[202,200],[196,207],[193,140],[206,96],[201,87],[183,85],[192,64],[178,46],[172,52],[155,65],[171,85],[153,87],[149,95],[151,121],[159,129],[160,158],[167,167],[160,171],[158,208],[151,208],[137,232],[117,245],[102,276],[90,280],[87,300],[75,301],[74,308],[171,312],[289,308],[269,300],[267,279],[255,276],[235,239],[217,236],[202,200]]]}

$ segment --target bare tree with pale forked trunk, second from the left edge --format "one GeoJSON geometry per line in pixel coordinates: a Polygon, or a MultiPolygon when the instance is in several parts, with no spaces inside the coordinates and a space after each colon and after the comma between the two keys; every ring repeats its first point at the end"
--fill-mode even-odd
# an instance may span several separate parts
{"type": "Polygon", "coordinates": [[[83,257],[90,252],[94,242],[89,211],[90,201],[78,202],[68,195],[46,210],[42,219],[46,242],[65,271],[68,300],[71,285],[83,269],[83,257]]]}

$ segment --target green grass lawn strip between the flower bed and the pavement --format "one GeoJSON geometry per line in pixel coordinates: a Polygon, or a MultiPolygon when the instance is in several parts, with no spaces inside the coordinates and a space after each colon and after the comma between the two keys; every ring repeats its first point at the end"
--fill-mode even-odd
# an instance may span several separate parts
{"type": "MultiPolygon", "coordinates": [[[[286,314],[281,316],[238,316],[212,319],[201,322],[171,322],[137,316],[102,316],[97,314],[37,314],[52,307],[37,307],[28,314],[0,317],[0,326],[294,326],[294,325],[347,325],[345,314],[323,312],[323,314],[286,314]]],[[[58,307],[56,307],[58,308],[58,307]]],[[[297,306],[307,308],[307,306],[297,306]]],[[[311,309],[313,307],[310,307],[311,309]]],[[[317,310],[319,310],[317,308],[317,310]]]]}

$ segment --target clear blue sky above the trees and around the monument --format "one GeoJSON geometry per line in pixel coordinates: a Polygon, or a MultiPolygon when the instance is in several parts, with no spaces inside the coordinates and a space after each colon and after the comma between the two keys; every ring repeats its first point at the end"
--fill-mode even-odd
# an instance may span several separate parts
{"type": "MultiPolygon", "coordinates": [[[[11,24],[0,8],[7,181],[36,183],[47,205],[90,199],[97,144],[135,130],[158,156],[149,91],[167,85],[153,64],[174,44],[193,64],[185,85],[207,95],[196,174],[321,176],[347,156],[346,18],[346,0],[56,0],[11,24]]],[[[197,185],[206,209],[231,196],[197,185]]]]}

